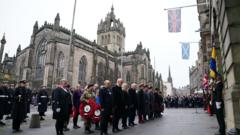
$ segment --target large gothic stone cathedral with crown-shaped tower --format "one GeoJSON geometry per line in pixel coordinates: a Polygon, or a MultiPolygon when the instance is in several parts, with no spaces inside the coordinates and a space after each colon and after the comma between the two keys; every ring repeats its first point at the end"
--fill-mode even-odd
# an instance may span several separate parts
{"type": "Polygon", "coordinates": [[[55,87],[60,79],[102,84],[105,79],[115,83],[121,77],[127,83],[145,83],[162,88],[162,77],[151,65],[150,52],[140,42],[134,51],[125,51],[125,27],[114,14],[114,8],[98,24],[97,41],[90,41],[54,23],[33,27],[30,45],[18,47],[14,56],[15,80],[26,79],[30,86],[55,87]]]}

